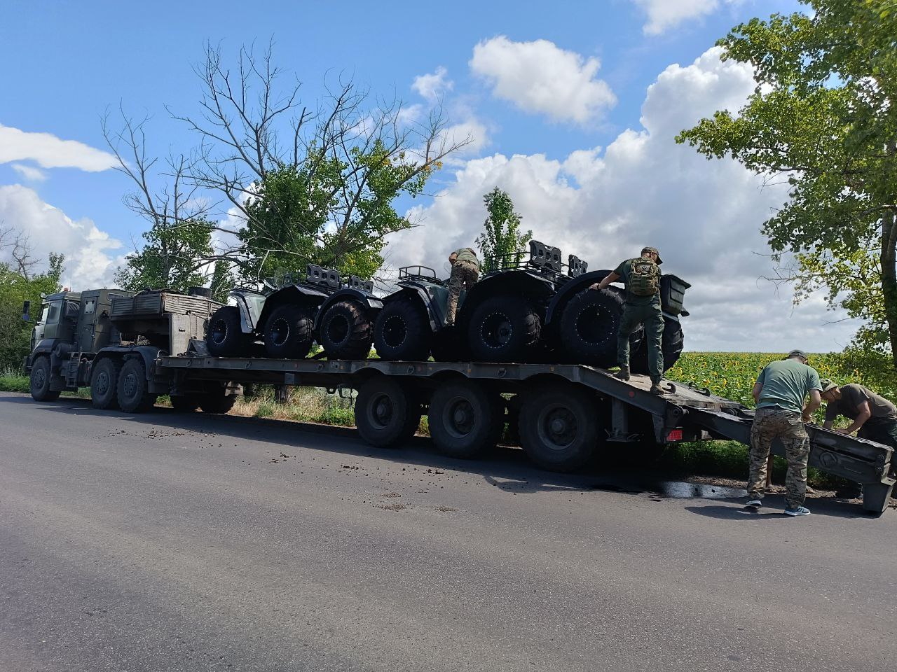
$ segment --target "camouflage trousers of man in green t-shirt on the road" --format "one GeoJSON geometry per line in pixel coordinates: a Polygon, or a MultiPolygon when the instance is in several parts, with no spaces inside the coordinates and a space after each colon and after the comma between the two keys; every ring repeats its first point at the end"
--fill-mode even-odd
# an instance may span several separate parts
{"type": "Polygon", "coordinates": [[[762,499],[766,489],[766,462],[772,442],[779,439],[785,446],[788,475],[785,477],[785,504],[793,509],[806,498],[806,461],[810,457],[810,437],[806,434],[800,413],[783,409],[757,409],[751,426],[751,467],[747,495],[762,499]]]}

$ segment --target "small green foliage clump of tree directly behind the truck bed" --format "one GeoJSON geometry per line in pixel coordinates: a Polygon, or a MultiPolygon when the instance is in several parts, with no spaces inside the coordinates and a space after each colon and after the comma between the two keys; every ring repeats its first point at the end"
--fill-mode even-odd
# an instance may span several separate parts
{"type": "Polygon", "coordinates": [[[130,254],[125,266],[116,271],[116,284],[131,291],[172,289],[185,293],[190,287],[204,286],[213,255],[212,228],[205,219],[156,221],[143,234],[143,250],[130,254]]]}

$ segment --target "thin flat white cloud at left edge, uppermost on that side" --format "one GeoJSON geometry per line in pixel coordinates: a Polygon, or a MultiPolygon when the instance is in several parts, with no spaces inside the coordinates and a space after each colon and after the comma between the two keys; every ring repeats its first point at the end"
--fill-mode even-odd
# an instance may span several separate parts
{"type": "Polygon", "coordinates": [[[0,163],[31,160],[41,168],[81,168],[90,172],[117,165],[108,151],[48,133],[30,133],[0,124],[0,163]]]}

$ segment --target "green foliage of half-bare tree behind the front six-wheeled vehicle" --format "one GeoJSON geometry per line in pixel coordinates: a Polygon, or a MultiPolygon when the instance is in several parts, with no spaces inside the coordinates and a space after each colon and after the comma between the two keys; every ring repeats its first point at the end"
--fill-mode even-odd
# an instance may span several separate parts
{"type": "Polygon", "coordinates": [[[393,208],[399,194],[420,194],[439,164],[421,166],[383,142],[351,147],[342,159],[314,147],[299,165],[266,173],[247,204],[247,280],[308,263],[370,279],[383,263],[385,237],[410,228],[393,208]],[[346,185],[351,185],[347,188],[346,185]]]}

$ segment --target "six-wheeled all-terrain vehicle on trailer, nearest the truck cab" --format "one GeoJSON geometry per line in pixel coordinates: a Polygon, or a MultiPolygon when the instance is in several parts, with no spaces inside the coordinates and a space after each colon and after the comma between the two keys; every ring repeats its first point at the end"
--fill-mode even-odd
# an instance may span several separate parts
{"type": "Polygon", "coordinates": [[[261,340],[267,357],[301,359],[317,340],[327,358],[368,357],[371,325],[382,307],[372,282],[353,275],[342,284],[337,271],[309,264],[304,281],[285,276],[278,285],[267,284],[265,293],[231,292],[236,306],[218,310],[209,325],[211,354],[243,357],[261,340]]]}

